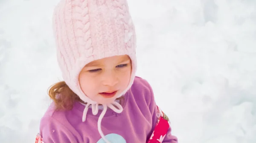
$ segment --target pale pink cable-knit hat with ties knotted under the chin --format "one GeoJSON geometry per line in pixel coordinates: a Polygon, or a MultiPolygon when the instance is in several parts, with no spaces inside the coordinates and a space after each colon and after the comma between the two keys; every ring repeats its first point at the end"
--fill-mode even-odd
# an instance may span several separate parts
{"type": "MultiPolygon", "coordinates": [[[[132,62],[131,79],[118,97],[131,87],[137,69],[136,34],[126,0],[61,0],[54,11],[53,30],[63,79],[87,103],[83,121],[90,105],[94,115],[98,112],[98,104],[82,92],[79,84],[79,73],[86,64],[105,57],[128,55],[132,62]]],[[[122,106],[115,101],[103,107],[98,122],[102,136],[100,122],[107,107],[122,112],[122,106]]]]}

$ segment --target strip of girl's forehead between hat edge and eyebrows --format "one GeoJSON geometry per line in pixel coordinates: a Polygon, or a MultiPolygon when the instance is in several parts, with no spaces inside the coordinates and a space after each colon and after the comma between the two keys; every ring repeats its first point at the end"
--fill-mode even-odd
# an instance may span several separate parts
{"type": "Polygon", "coordinates": [[[104,65],[104,64],[109,64],[109,63],[117,64],[117,63],[125,62],[125,61],[128,61],[128,60],[131,60],[128,55],[111,56],[111,57],[107,57],[107,58],[92,61],[92,62],[86,64],[85,67],[104,65]]]}

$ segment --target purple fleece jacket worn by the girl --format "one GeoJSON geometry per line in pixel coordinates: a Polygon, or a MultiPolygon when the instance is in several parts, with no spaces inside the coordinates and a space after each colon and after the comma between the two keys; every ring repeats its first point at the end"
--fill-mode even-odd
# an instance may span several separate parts
{"type": "MultiPolygon", "coordinates": [[[[132,87],[124,95],[123,112],[108,109],[102,119],[102,131],[111,143],[146,143],[157,123],[154,94],[148,82],[135,77],[132,87]]],[[[40,123],[45,143],[105,143],[98,132],[97,115],[87,112],[82,122],[84,105],[76,102],[73,109],[55,111],[52,103],[40,123]]],[[[177,143],[171,127],[163,143],[177,143]]]]}

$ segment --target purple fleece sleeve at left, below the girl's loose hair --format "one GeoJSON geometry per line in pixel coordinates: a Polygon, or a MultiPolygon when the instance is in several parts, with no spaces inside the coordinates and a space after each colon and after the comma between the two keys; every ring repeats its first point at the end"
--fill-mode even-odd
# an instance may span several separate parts
{"type": "Polygon", "coordinates": [[[41,119],[40,135],[44,143],[78,143],[65,126],[50,116],[41,119]]]}

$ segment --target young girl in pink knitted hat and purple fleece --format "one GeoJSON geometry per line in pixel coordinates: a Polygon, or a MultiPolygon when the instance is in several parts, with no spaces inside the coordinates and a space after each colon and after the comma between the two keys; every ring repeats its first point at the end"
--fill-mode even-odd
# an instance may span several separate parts
{"type": "Polygon", "coordinates": [[[135,76],[136,35],[126,0],[61,0],[53,29],[64,81],[36,142],[177,143],[148,82],[135,76]]]}

